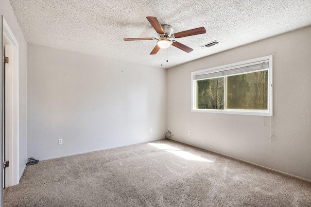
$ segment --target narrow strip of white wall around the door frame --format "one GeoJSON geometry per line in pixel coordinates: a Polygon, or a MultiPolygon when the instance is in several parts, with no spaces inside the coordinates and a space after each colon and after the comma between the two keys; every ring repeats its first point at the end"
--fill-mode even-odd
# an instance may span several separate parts
{"type": "Polygon", "coordinates": [[[27,43],[8,0],[0,0],[0,15],[4,16],[19,47],[19,177],[21,177],[27,159],[27,43]]]}

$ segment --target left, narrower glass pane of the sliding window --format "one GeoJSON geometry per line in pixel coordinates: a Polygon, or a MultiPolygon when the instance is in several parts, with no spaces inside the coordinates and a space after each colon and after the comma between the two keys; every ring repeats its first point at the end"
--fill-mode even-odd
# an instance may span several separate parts
{"type": "Polygon", "coordinates": [[[224,109],[224,78],[198,80],[197,109],[224,109]]]}

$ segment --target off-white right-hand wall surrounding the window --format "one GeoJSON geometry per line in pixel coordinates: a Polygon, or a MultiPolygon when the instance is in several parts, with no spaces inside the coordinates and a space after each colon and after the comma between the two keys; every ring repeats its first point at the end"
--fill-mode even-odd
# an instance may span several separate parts
{"type": "Polygon", "coordinates": [[[168,70],[167,128],[174,140],[311,180],[310,80],[311,27],[176,66],[168,70]],[[269,117],[190,111],[191,71],[268,55],[274,82],[271,142],[269,117]]]}

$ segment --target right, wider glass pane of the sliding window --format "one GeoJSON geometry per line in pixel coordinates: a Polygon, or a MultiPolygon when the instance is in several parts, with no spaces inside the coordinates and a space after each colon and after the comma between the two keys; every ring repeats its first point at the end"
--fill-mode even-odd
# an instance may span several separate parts
{"type": "Polygon", "coordinates": [[[226,77],[227,109],[268,109],[268,71],[226,77]]]}

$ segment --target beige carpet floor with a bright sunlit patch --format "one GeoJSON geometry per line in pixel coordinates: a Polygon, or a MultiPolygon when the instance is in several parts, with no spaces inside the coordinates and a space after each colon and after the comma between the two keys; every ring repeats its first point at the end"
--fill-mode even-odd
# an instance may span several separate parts
{"type": "Polygon", "coordinates": [[[4,207],[311,207],[311,183],[171,140],[27,166],[4,207]]]}

